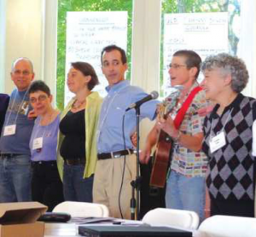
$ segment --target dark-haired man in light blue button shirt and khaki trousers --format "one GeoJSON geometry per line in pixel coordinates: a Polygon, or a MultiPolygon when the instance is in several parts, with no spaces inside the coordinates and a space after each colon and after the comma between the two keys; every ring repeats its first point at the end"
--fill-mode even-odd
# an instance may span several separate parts
{"type": "MultiPolygon", "coordinates": [[[[125,80],[125,51],[116,45],[102,49],[102,72],[108,80],[108,95],[102,103],[98,130],[93,201],[108,206],[110,217],[131,218],[131,181],[136,177],[136,155],[131,135],[136,130],[134,109],[125,112],[132,103],[147,96],[142,89],[125,80]]],[[[141,106],[140,119],[154,119],[158,101],[141,106]]]]}

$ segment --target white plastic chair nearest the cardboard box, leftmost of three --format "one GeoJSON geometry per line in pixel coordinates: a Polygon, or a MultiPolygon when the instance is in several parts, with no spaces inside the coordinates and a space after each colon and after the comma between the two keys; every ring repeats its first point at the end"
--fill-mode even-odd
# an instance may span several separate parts
{"type": "Polygon", "coordinates": [[[109,217],[106,205],[89,202],[65,201],[56,205],[53,212],[66,212],[71,217],[109,217]]]}

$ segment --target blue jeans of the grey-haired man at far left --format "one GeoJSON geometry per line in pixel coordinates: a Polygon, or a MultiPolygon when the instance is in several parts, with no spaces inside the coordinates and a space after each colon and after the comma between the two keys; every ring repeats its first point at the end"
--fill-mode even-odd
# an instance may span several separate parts
{"type": "Polygon", "coordinates": [[[30,155],[0,158],[0,202],[31,201],[30,155]]]}

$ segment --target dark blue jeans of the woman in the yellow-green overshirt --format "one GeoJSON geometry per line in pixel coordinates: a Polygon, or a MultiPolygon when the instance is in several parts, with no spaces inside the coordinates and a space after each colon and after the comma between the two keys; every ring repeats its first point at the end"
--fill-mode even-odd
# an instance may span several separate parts
{"type": "Polygon", "coordinates": [[[84,179],[84,165],[64,165],[63,193],[68,201],[92,202],[93,176],[84,179]]]}

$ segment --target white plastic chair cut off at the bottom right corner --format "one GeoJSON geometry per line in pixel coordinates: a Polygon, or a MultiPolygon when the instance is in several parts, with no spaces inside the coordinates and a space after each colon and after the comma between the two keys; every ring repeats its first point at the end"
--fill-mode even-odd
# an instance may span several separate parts
{"type": "Polygon", "coordinates": [[[256,218],[213,216],[204,220],[198,231],[205,237],[255,237],[256,218]]]}

